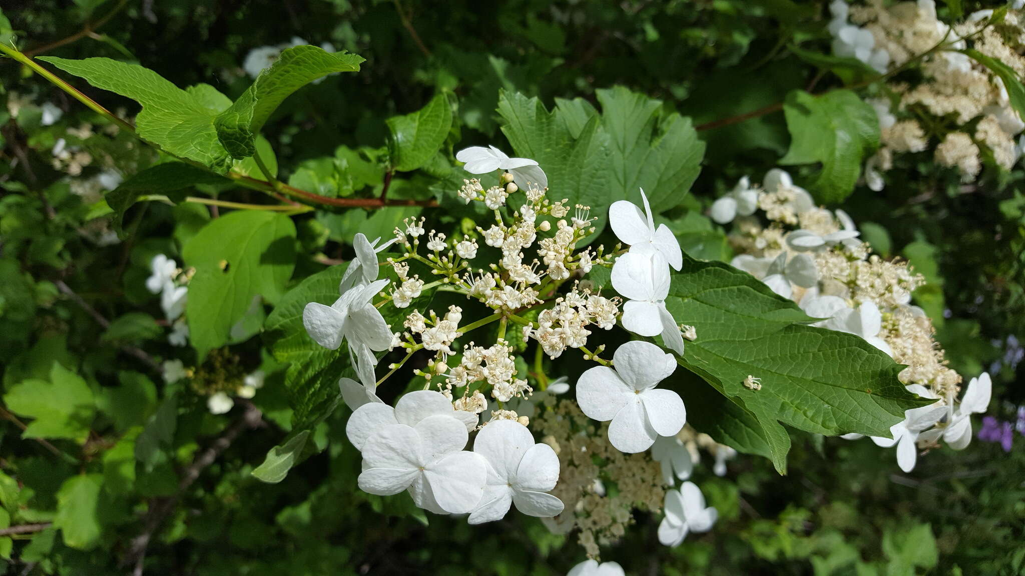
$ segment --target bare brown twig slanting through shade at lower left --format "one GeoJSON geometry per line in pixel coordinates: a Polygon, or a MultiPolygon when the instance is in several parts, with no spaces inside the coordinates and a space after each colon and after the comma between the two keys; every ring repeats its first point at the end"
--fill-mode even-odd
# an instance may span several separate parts
{"type": "Polygon", "coordinates": [[[177,505],[178,500],[181,499],[181,495],[196,479],[199,478],[200,474],[212,464],[218,456],[223,454],[225,450],[232,445],[236,438],[243,431],[251,428],[259,427],[262,420],[262,413],[259,408],[256,408],[251,402],[239,401],[245,411],[242,417],[239,418],[234,424],[232,424],[228,429],[224,430],[217,440],[204,450],[199,456],[193,460],[192,465],[190,465],[181,474],[181,479],[178,481],[178,490],[170,498],[162,500],[154,500],[151,502],[150,511],[147,512],[146,519],[144,520],[144,528],[141,534],[132,538],[131,546],[128,553],[125,554],[124,564],[132,565],[132,576],[141,576],[144,570],[144,564],[146,562],[146,550],[150,545],[150,541],[156,535],[160,526],[163,524],[164,520],[177,505]]]}

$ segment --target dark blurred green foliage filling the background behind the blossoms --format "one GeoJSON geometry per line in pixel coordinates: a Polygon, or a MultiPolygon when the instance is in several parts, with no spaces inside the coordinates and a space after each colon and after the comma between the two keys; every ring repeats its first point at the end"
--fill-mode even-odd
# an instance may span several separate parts
{"type": "MultiPolygon", "coordinates": [[[[940,9],[967,13],[986,7],[963,4],[951,1],[940,9]]],[[[385,145],[384,120],[419,110],[439,90],[458,101],[453,141],[505,148],[495,113],[499,89],[537,95],[550,107],[555,98],[594,102],[596,89],[627,86],[698,126],[707,142],[705,160],[692,194],[674,214],[674,232],[693,241],[685,240],[685,249],[712,250],[705,257],[726,259],[722,233],[700,214],[740,176],[761,178],[789,143],[779,112],[746,121],[734,117],[777,105],[792,89],[839,83],[793,49],[828,53],[823,2],[15,0],[5,3],[3,15],[27,52],[136,60],[176,85],[206,82],[233,98],[251,82],[242,66],[259,46],[298,37],[364,56],[360,73],[328,77],[287,99],[263,131],[282,179],[328,195],[379,190],[374,154],[385,145]]],[[[70,363],[90,379],[119,382],[93,390],[110,398],[105,413],[119,428],[144,422],[160,408],[156,384],[140,373],[147,370],[142,361],[124,366],[115,356],[119,347],[152,339],[157,326],[148,315],[128,313],[156,307],[142,288],[149,260],[177,252],[175,246],[195,235],[209,214],[195,205],[153,204],[145,220],[137,211],[126,220],[128,240],[96,246],[90,235],[104,231],[89,228],[89,205],[71,193],[68,166],[54,168],[54,145],[65,138],[96,160],[81,167],[77,177],[83,179],[105,167],[134,173],[155,160],[152,151],[107,129],[97,115],[10,60],[0,66],[0,97],[7,100],[0,110],[6,160],[0,163],[5,392],[26,378],[49,378],[54,361],[70,363]],[[44,102],[63,111],[57,122],[44,125],[44,102]],[[16,118],[12,106],[19,109],[16,118]],[[83,124],[91,128],[84,130],[83,124]],[[90,287],[77,292],[89,308],[63,289],[72,279],[90,287]],[[96,345],[94,315],[116,319],[102,345],[96,345]],[[118,366],[116,377],[112,366],[118,366]]],[[[90,95],[111,110],[134,110],[114,94],[92,90],[90,95]]],[[[952,366],[968,375],[994,372],[989,414],[1014,421],[1025,404],[1016,339],[1025,333],[1023,172],[987,166],[978,182],[961,186],[927,154],[907,158],[903,169],[889,172],[884,192],[859,187],[843,207],[876,251],[908,258],[927,276],[931,286],[916,297],[938,312],[934,321],[952,366]]],[[[797,171],[795,180],[802,179],[797,171]]],[[[415,176],[403,182],[389,194],[432,194],[415,176]]],[[[410,211],[318,215],[299,222],[299,240],[308,251],[344,258],[351,253],[345,238],[354,231],[367,230],[371,238],[386,234],[400,214],[410,211]]],[[[297,265],[296,277],[311,272],[302,270],[310,264],[297,265]]],[[[255,341],[236,352],[246,370],[271,362],[259,360],[255,341]]],[[[276,411],[286,411],[281,387],[272,378],[258,397],[272,422],[276,411]]],[[[167,396],[167,390],[161,395],[167,396]]],[[[100,532],[85,534],[94,543],[76,549],[52,528],[2,537],[7,573],[127,571],[119,563],[145,527],[137,520],[138,502],[119,498],[111,488],[119,480],[125,493],[173,508],[163,526],[150,530],[146,566],[153,574],[547,575],[563,574],[583,558],[572,538],[550,534],[536,519],[516,516],[471,528],[433,516],[428,523],[401,498],[360,492],[358,454],[343,440],[344,410],[318,428],[315,441],[323,446],[330,439],[329,448],[281,484],[250,476],[266,447],[282,436],[264,426],[243,431],[242,440],[179,492],[175,462],[189,461],[230,424],[198,406],[195,396],[177,396],[180,415],[168,440],[175,458],[136,470],[130,448],[125,455],[101,438],[86,442],[84,457],[102,459],[104,494],[114,492],[94,510],[98,520],[90,526],[100,532]]],[[[16,418],[4,413],[0,525],[5,517],[8,525],[13,517],[19,524],[54,521],[47,510],[76,497],[61,487],[78,464],[20,440],[16,418]]],[[[960,453],[944,448],[921,459],[910,475],[898,470],[890,451],[868,442],[792,436],[787,477],[753,457],[732,461],[724,478],[710,475],[708,466],[699,468],[696,481],[720,510],[711,533],[665,548],[655,536],[658,519],[642,515],[603,560],[618,561],[637,575],[1025,574],[1025,438],[1020,435],[1010,452],[981,442],[960,453]]]]}

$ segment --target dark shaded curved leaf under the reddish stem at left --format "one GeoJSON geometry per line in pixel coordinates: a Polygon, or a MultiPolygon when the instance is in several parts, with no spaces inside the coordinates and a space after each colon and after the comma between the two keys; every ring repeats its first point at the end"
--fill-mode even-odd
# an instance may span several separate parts
{"type": "Polygon", "coordinates": [[[184,162],[165,162],[151,166],[121,183],[105,196],[107,204],[114,210],[115,230],[121,230],[125,212],[140,196],[164,195],[171,202],[186,199],[184,190],[196,184],[223,183],[224,178],[184,162]]]}

